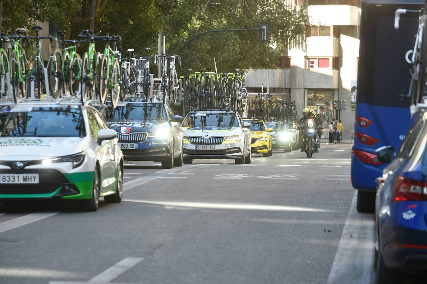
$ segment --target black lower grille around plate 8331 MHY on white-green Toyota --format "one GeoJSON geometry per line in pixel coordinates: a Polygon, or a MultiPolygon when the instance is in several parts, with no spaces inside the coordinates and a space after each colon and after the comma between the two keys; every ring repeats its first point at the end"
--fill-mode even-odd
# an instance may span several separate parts
{"type": "Polygon", "coordinates": [[[38,184],[0,184],[0,194],[43,194],[52,193],[64,183],[70,183],[58,170],[1,170],[5,173],[38,173],[38,184]]]}

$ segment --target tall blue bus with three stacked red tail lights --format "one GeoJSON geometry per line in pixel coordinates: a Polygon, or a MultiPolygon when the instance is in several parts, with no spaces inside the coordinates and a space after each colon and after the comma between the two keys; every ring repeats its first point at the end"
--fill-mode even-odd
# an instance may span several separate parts
{"type": "Polygon", "coordinates": [[[374,212],[377,177],[387,164],[375,149],[399,149],[413,120],[407,97],[409,62],[418,29],[418,15],[402,15],[395,29],[395,11],[420,9],[424,0],[364,0],[360,22],[354,145],[351,183],[357,191],[357,211],[374,212]]]}

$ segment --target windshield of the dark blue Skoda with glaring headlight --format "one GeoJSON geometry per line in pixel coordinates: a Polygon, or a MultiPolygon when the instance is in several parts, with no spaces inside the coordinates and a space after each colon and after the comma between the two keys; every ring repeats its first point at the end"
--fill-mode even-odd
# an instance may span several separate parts
{"type": "Polygon", "coordinates": [[[126,105],[117,105],[117,108],[106,108],[101,112],[104,113],[107,122],[120,120],[167,120],[167,113],[163,103],[146,103],[135,104],[128,103],[126,105]]]}

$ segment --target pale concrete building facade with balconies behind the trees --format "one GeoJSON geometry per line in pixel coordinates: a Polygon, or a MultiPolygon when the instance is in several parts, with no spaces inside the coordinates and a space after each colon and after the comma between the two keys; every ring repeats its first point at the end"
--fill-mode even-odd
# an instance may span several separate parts
{"type": "Polygon", "coordinates": [[[249,99],[253,100],[263,85],[273,96],[295,101],[299,116],[302,108],[319,113],[324,102],[333,109],[334,100],[346,100],[344,110],[333,112],[342,120],[344,130],[353,131],[351,91],[357,88],[360,0],[307,0],[306,9],[310,23],[306,25],[305,43],[288,47],[276,69],[249,70],[245,75],[249,99]]]}

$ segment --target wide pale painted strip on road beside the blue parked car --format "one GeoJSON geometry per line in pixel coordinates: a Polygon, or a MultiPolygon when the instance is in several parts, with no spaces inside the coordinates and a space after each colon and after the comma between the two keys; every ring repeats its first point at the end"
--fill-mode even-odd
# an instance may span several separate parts
{"type": "Polygon", "coordinates": [[[327,284],[374,283],[374,215],[356,210],[357,190],[342,228],[327,284]]]}

